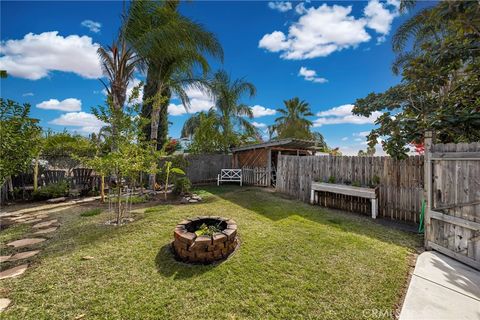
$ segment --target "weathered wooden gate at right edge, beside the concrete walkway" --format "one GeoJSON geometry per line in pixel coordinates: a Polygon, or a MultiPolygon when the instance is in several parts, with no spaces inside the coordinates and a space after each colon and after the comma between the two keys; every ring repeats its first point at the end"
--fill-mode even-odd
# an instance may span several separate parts
{"type": "Polygon", "coordinates": [[[425,248],[480,270],[480,143],[425,139],[425,248]]]}

